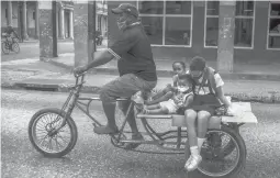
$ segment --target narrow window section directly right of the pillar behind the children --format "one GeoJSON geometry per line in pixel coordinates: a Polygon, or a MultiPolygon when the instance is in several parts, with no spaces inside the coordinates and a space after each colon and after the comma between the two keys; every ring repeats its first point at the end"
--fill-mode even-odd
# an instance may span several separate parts
{"type": "Polygon", "coordinates": [[[235,47],[250,47],[254,44],[254,22],[255,4],[254,1],[236,1],[235,7],[235,47]]]}

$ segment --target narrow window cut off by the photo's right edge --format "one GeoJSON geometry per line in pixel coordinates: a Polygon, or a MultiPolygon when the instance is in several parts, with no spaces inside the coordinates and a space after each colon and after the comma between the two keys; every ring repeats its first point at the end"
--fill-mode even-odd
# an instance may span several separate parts
{"type": "Polygon", "coordinates": [[[269,3],[268,48],[280,49],[280,2],[269,3]]]}

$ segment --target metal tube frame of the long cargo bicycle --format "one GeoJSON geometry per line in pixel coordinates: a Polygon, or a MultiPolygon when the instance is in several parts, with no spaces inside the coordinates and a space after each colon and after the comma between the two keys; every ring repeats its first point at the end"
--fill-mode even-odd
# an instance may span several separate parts
{"type": "MultiPolygon", "coordinates": [[[[64,118],[61,124],[59,127],[53,131],[53,134],[57,133],[61,127],[65,126],[66,120],[71,115],[71,112],[74,108],[78,108],[80,111],[82,111],[89,119],[92,120],[93,126],[101,126],[101,123],[90,114],[89,112],[89,105],[92,101],[101,101],[100,98],[93,97],[93,98],[80,98],[80,91],[82,88],[82,85],[85,84],[85,74],[81,74],[76,77],[76,85],[71,87],[70,94],[67,98],[66,102],[64,103],[61,111],[66,112],[66,116],[64,118]],[[82,101],[87,101],[87,103],[83,103],[82,101]],[[85,109],[86,107],[86,109],[85,109]]],[[[119,98],[116,101],[127,101],[130,99],[125,98],[119,98]]],[[[182,138],[187,137],[187,131],[182,131],[181,127],[178,127],[176,130],[169,130],[167,132],[163,133],[157,133],[147,122],[145,118],[141,118],[142,124],[146,131],[146,134],[152,138],[152,141],[133,141],[133,140],[122,140],[122,134],[124,133],[130,133],[130,132],[124,132],[124,126],[127,122],[127,116],[128,114],[134,110],[134,101],[131,102],[128,105],[127,112],[125,113],[125,119],[120,127],[120,131],[117,134],[110,134],[110,136],[116,142],[121,144],[125,143],[139,143],[139,144],[153,144],[157,145],[166,151],[179,151],[179,153],[172,153],[172,154],[183,154],[184,148],[181,148],[181,145],[184,145],[182,143],[182,138]],[[176,142],[167,142],[166,140],[169,138],[177,138],[176,142]],[[173,147],[167,147],[165,145],[175,145],[176,148],[173,147]]],[[[160,119],[163,120],[163,119],[160,119]]],[[[54,121],[56,122],[56,120],[54,121]]]]}

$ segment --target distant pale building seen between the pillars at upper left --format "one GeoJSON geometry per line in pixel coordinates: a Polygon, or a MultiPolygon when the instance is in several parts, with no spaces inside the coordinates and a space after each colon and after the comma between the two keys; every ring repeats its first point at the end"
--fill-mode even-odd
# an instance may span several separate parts
{"type": "MultiPolygon", "coordinates": [[[[58,38],[74,37],[74,2],[56,2],[56,31],[58,38]]],[[[38,38],[37,1],[1,1],[1,30],[11,25],[23,40],[38,38]],[[20,14],[20,15],[19,15],[20,14]]],[[[107,36],[108,8],[105,0],[97,1],[96,26],[107,36]]]]}

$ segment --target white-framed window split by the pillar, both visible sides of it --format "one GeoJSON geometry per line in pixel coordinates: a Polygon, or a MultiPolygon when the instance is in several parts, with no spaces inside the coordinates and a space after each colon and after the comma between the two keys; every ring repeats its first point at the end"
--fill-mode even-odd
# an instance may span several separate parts
{"type": "MultiPolygon", "coordinates": [[[[219,40],[219,1],[206,1],[204,46],[216,47],[219,40]]],[[[235,47],[253,47],[255,4],[254,1],[236,1],[235,47]]]]}

